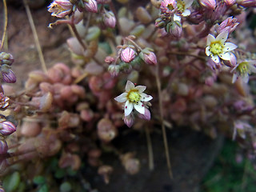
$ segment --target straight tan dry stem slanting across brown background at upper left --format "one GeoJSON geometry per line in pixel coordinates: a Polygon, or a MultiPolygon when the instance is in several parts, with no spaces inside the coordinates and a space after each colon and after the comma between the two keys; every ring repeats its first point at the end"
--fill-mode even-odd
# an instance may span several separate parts
{"type": "Polygon", "coordinates": [[[26,8],[26,14],[27,14],[27,17],[29,19],[30,27],[31,27],[31,30],[32,30],[32,33],[33,33],[33,36],[34,36],[34,43],[35,43],[35,46],[37,47],[37,50],[38,50],[38,56],[39,56],[39,60],[40,60],[41,65],[42,65],[42,70],[46,73],[47,72],[46,62],[45,62],[45,59],[43,58],[42,49],[41,49],[40,42],[39,42],[39,39],[38,39],[38,33],[37,33],[37,30],[35,29],[34,20],[32,18],[32,14],[30,12],[30,6],[28,6],[26,0],[23,0],[23,3],[24,3],[24,6],[26,8]]]}

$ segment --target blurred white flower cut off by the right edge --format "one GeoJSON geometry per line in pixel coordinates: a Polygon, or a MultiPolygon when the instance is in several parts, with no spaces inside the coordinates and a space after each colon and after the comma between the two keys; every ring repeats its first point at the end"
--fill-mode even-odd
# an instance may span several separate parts
{"type": "Polygon", "coordinates": [[[248,82],[249,81],[249,74],[256,73],[256,61],[244,61],[244,62],[239,62],[237,66],[234,67],[231,72],[234,72],[232,82],[234,83],[238,76],[242,78],[243,82],[248,82]]]}

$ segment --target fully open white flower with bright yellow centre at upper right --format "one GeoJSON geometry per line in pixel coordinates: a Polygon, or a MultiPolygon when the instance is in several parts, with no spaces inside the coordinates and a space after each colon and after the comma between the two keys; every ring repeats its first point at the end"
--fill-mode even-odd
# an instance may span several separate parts
{"type": "Polygon", "coordinates": [[[212,34],[208,34],[206,55],[210,56],[214,62],[220,62],[219,58],[222,58],[223,60],[230,60],[229,51],[238,47],[232,42],[226,42],[228,35],[228,31],[222,31],[222,33],[218,34],[217,38],[212,34]]]}

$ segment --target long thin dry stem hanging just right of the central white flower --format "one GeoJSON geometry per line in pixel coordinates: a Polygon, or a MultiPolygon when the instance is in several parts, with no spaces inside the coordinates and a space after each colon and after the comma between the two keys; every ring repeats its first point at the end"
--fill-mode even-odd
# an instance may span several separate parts
{"type": "Polygon", "coordinates": [[[155,73],[155,78],[158,86],[158,102],[159,102],[159,110],[160,110],[160,120],[161,120],[161,126],[162,126],[162,138],[163,138],[163,143],[165,146],[165,152],[166,152],[166,162],[167,162],[167,168],[168,172],[170,175],[170,178],[174,178],[173,172],[171,170],[171,164],[170,164],[170,154],[169,154],[169,146],[168,146],[168,141],[167,141],[167,136],[166,136],[166,127],[164,125],[164,118],[163,118],[163,112],[162,112],[162,94],[161,94],[161,82],[158,74],[159,66],[156,66],[156,73],[155,73]]]}

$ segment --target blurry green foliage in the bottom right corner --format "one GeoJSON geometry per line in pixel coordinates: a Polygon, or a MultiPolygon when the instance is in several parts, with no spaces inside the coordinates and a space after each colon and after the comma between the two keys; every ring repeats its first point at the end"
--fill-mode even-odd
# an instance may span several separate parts
{"type": "Polygon", "coordinates": [[[235,161],[238,146],[226,142],[214,167],[202,182],[201,192],[254,192],[256,171],[248,159],[235,161]]]}

